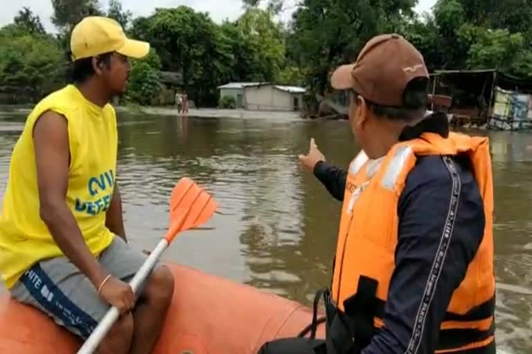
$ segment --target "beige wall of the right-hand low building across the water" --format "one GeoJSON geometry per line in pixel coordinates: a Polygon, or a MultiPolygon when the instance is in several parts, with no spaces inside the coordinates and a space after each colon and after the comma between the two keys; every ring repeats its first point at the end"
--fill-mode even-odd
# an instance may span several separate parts
{"type": "Polygon", "coordinates": [[[303,95],[278,90],[274,86],[249,86],[244,89],[246,108],[251,111],[293,111],[294,96],[299,97],[299,107],[303,95]]]}

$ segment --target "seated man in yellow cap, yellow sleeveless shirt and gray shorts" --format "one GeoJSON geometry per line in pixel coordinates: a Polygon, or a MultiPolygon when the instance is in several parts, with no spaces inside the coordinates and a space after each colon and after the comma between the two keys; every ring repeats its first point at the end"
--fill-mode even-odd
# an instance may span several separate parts
{"type": "Polygon", "coordinates": [[[127,282],[145,255],[126,243],[116,185],[116,113],[128,57],[148,43],[104,17],[71,35],[73,84],[35,106],[12,151],[0,216],[0,273],[12,297],[86,339],[109,305],[121,317],[98,353],[150,353],[173,279],[158,266],[136,298],[127,282]]]}

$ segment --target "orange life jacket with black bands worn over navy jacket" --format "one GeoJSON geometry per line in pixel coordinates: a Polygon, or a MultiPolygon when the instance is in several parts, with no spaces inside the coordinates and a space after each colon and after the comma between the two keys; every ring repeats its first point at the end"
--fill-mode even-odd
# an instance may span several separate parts
{"type": "MultiPolygon", "coordinates": [[[[387,156],[371,161],[371,165],[364,152],[360,153],[348,171],[330,290],[332,301],[342,311],[344,301],[357,294],[362,293],[364,299],[376,297],[379,305],[369,323],[373,317],[373,328],[383,326],[382,313],[398,243],[398,199],[409,171],[416,165],[416,156],[458,153],[468,154],[472,161],[484,201],[486,226],[479,250],[452,295],[436,353],[482,348],[494,341],[493,180],[488,138],[459,133],[443,138],[436,133],[423,133],[419,138],[398,143],[387,156]],[[373,295],[363,294],[368,291],[373,295]]],[[[453,202],[458,203],[457,198],[453,202]]]]}

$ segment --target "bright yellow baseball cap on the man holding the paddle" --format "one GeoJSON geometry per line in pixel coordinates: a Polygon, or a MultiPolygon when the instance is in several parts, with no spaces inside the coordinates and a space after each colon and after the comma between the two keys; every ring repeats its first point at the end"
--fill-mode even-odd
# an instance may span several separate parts
{"type": "Polygon", "coordinates": [[[150,44],[127,38],[122,26],[114,19],[89,16],[72,30],[70,49],[72,61],[108,52],[139,59],[148,55],[150,44]]]}

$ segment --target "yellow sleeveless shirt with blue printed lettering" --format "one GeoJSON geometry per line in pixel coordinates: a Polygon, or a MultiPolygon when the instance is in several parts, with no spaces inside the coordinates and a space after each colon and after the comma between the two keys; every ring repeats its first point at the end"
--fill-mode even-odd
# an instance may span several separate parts
{"type": "Polygon", "coordinates": [[[105,212],[116,179],[116,113],[89,102],[73,85],[45,97],[26,120],[12,151],[8,186],[0,214],[0,273],[7,288],[34,263],[64,256],[39,216],[33,125],[45,111],[68,120],[71,162],[66,202],[95,256],[112,242],[105,212]]]}

